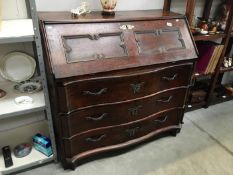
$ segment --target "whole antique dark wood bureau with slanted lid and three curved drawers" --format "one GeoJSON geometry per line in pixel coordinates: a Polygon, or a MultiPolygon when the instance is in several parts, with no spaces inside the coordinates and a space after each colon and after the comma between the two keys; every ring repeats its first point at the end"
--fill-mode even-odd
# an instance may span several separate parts
{"type": "Polygon", "coordinates": [[[64,168],[180,131],[197,58],[184,16],[44,12],[40,24],[64,168]]]}

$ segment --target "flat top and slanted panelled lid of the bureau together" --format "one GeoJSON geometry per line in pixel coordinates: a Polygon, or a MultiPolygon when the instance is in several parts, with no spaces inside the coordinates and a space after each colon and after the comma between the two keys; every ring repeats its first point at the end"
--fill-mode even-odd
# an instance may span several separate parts
{"type": "Polygon", "coordinates": [[[184,16],[162,10],[39,14],[49,69],[57,79],[197,58],[184,16]]]}

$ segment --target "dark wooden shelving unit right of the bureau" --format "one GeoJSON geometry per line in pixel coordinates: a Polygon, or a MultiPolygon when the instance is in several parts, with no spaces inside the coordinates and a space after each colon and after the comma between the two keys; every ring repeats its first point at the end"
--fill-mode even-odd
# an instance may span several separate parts
{"type": "MultiPolygon", "coordinates": [[[[164,1],[164,11],[170,11],[174,8],[175,3],[181,3],[180,5],[185,5],[184,13],[187,16],[190,26],[193,24],[193,20],[197,17],[197,13],[200,18],[208,20],[213,18],[214,11],[219,7],[219,0],[184,0],[182,2],[165,0],[164,1]],[[201,10],[200,10],[201,9],[201,10]],[[198,12],[199,11],[199,12],[198,12]]],[[[229,11],[228,18],[226,20],[225,30],[220,33],[208,33],[208,34],[197,34],[193,35],[196,42],[199,41],[214,41],[222,44],[223,50],[221,52],[220,58],[217,62],[216,68],[211,73],[196,73],[193,75],[193,88],[190,91],[189,105],[187,106],[187,111],[199,109],[202,107],[208,107],[217,103],[233,99],[233,80],[232,75],[230,76],[229,82],[223,82],[224,74],[232,72],[233,65],[229,67],[224,67],[224,59],[232,57],[232,28],[233,28],[233,1],[228,1],[227,9],[229,11]],[[232,88],[232,92],[227,91],[226,86],[229,83],[229,87],[232,88]],[[195,93],[198,92],[198,93],[195,93]],[[194,92],[194,93],[193,93],[194,92]],[[203,93],[200,93],[203,92],[203,93]],[[192,95],[196,94],[197,98],[192,102],[192,95]],[[198,96],[199,95],[199,96],[198,96]]],[[[223,12],[223,10],[221,11],[223,12]]]]}

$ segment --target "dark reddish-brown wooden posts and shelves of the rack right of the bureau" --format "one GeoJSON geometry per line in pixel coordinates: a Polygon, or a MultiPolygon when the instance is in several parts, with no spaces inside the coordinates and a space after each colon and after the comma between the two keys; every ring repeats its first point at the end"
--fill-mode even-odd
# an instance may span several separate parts
{"type": "MultiPolygon", "coordinates": [[[[165,0],[164,1],[164,11],[170,11],[172,6],[171,0],[165,0]]],[[[193,17],[195,16],[195,5],[196,0],[187,0],[184,1],[186,3],[186,10],[185,14],[187,16],[187,20],[189,24],[192,24],[193,17]]],[[[209,19],[211,10],[213,8],[214,0],[205,0],[204,6],[203,6],[203,19],[209,19]]],[[[222,54],[220,56],[220,59],[217,63],[217,66],[215,68],[215,72],[212,74],[194,74],[193,75],[193,81],[196,82],[198,79],[208,79],[206,81],[210,81],[209,87],[207,90],[207,95],[204,101],[197,103],[197,104],[188,104],[186,111],[191,111],[195,109],[199,109],[202,107],[208,107],[210,105],[214,105],[220,102],[228,101],[233,99],[232,96],[226,96],[226,97],[218,97],[218,94],[216,95],[216,88],[219,86],[219,82],[221,82],[222,76],[225,72],[233,71],[233,67],[230,68],[224,68],[223,60],[224,57],[229,56],[229,50],[231,50],[232,47],[232,37],[233,37],[233,1],[230,1],[230,11],[229,11],[229,17],[227,20],[227,25],[224,33],[218,33],[218,34],[208,34],[208,35],[194,35],[193,39],[194,41],[215,41],[215,40],[221,40],[221,44],[224,45],[222,54]]],[[[194,83],[195,86],[195,83],[194,83]]],[[[190,94],[191,95],[191,94],[190,94]]]]}

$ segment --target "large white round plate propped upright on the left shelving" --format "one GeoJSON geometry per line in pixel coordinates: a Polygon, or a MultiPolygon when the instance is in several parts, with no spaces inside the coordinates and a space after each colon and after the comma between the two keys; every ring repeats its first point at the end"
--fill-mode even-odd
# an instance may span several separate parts
{"type": "Polygon", "coordinates": [[[34,58],[22,52],[11,52],[0,61],[0,74],[3,78],[14,82],[30,79],[35,68],[34,58]]]}

